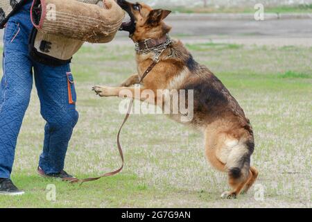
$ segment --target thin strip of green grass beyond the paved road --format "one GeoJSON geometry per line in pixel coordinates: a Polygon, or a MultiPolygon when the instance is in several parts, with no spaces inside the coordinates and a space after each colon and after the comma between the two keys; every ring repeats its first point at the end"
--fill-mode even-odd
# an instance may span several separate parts
{"type": "MultiPolygon", "coordinates": [[[[168,7],[167,7],[168,8],[168,7]]],[[[254,13],[253,6],[246,7],[175,7],[170,8],[173,12],[180,13],[254,13]]],[[[265,6],[268,13],[312,13],[312,4],[301,4],[297,6],[265,6]]]]}

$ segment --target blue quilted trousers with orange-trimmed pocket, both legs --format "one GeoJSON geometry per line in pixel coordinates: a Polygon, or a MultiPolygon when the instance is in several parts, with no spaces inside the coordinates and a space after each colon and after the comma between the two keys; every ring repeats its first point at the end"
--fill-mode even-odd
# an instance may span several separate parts
{"type": "Polygon", "coordinates": [[[49,67],[33,61],[28,55],[28,36],[33,28],[30,8],[31,3],[27,3],[10,17],[4,31],[0,86],[0,178],[10,178],[12,172],[15,146],[30,101],[33,76],[41,114],[46,120],[39,161],[45,173],[59,173],[64,168],[67,146],[78,121],[76,92],[69,64],[49,67]]]}

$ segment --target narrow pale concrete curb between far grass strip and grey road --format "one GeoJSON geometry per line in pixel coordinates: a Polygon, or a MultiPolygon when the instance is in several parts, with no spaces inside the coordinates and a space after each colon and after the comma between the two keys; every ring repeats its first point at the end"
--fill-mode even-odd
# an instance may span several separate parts
{"type": "MultiPolygon", "coordinates": [[[[265,13],[265,20],[273,19],[312,19],[312,13],[265,13]]],[[[254,20],[252,13],[174,13],[168,17],[168,21],[177,20],[254,20]]]]}

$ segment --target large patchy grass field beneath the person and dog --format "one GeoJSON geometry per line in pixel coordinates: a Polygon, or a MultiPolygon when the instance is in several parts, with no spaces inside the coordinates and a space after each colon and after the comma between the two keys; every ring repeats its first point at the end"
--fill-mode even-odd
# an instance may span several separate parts
{"type": "MultiPolygon", "coordinates": [[[[311,207],[312,49],[227,44],[188,44],[198,62],[223,80],[254,127],[257,187],[237,200],[220,200],[227,178],[209,167],[202,135],[163,115],[132,115],[122,133],[125,169],[82,185],[36,176],[44,121],[33,90],[12,179],[24,196],[0,196],[0,207],[311,207]],[[49,201],[47,185],[56,187],[49,201]]],[[[83,46],[73,59],[76,126],[66,169],[96,176],[121,164],[116,133],[123,120],[119,99],[101,99],[91,87],[117,85],[134,73],[133,46],[83,46]]]]}

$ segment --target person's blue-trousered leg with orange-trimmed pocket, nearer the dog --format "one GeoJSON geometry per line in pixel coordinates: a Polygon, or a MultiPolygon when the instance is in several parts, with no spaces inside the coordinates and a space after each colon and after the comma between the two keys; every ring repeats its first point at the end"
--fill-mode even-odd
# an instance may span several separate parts
{"type": "Polygon", "coordinates": [[[47,122],[39,167],[48,175],[60,173],[78,121],[73,76],[69,65],[49,67],[35,62],[34,71],[41,114],[47,122]]]}

